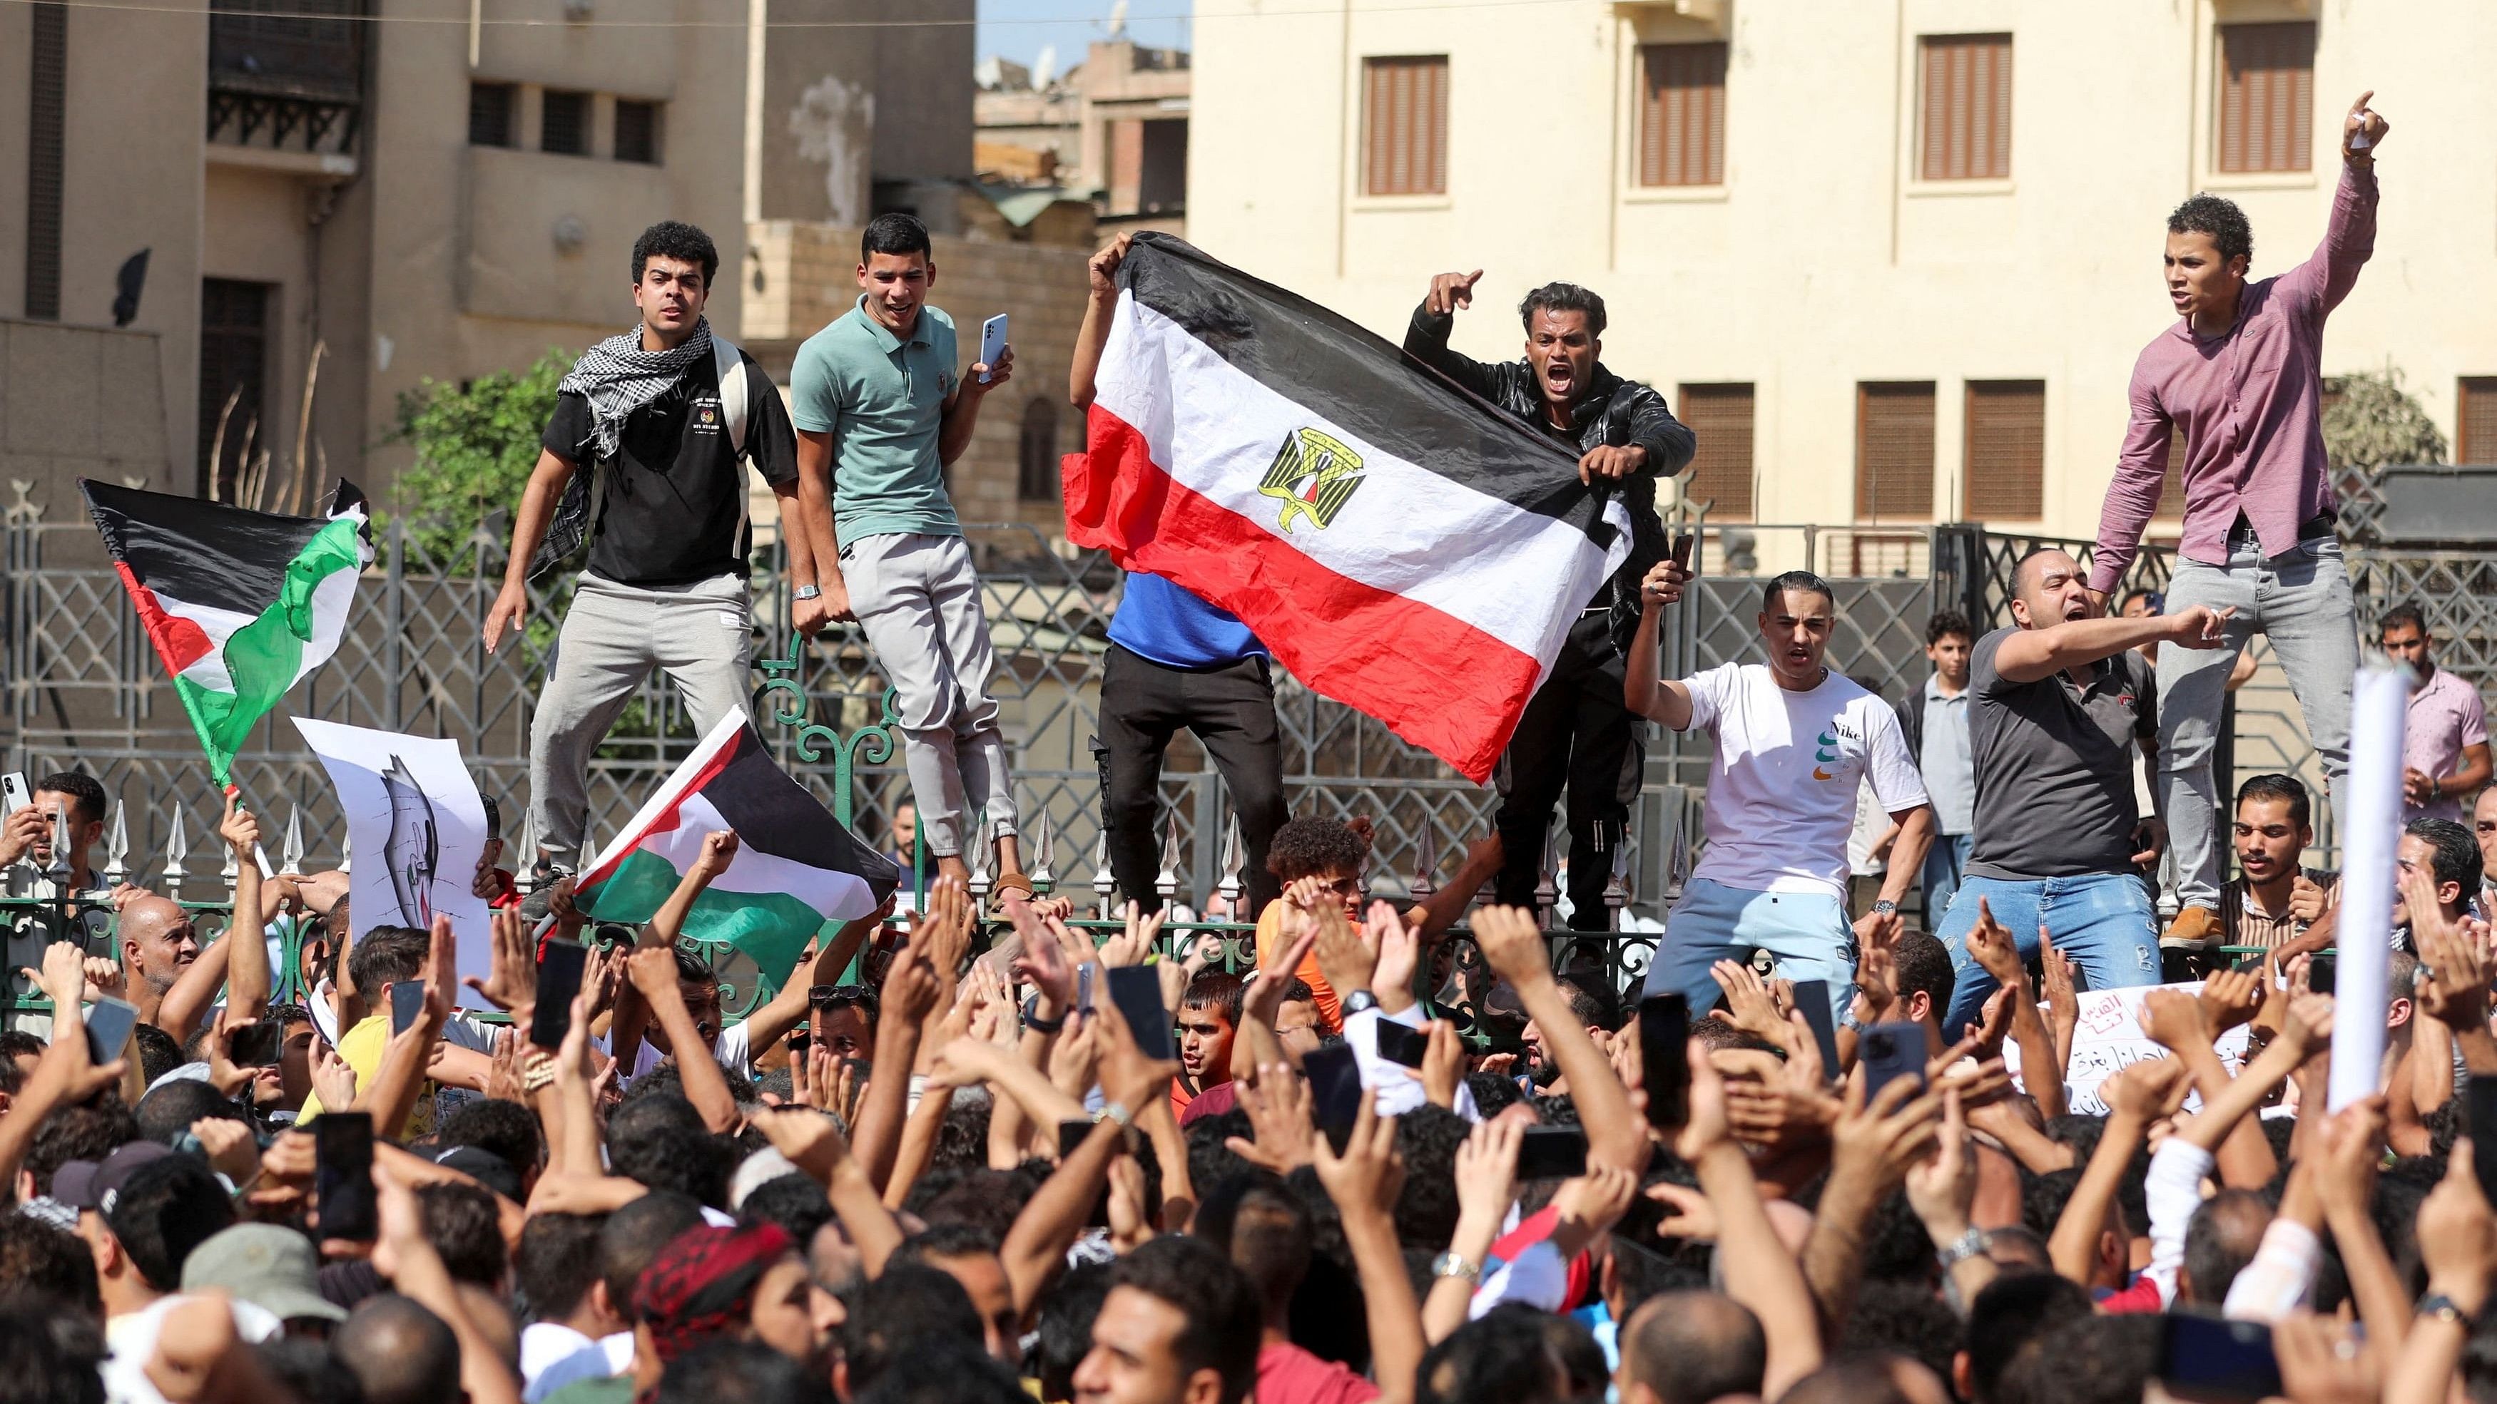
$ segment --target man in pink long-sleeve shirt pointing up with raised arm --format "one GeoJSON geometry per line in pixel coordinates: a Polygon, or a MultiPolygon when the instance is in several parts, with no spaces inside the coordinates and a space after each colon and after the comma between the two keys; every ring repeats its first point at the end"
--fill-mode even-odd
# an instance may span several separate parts
{"type": "Polygon", "coordinates": [[[2270,636],[2307,736],[2337,781],[2350,761],[2357,611],[2325,464],[2322,337],[2375,252],[2375,152],[2390,130],[2360,95],[2342,120],[2342,177],[2315,257],[2247,282],[2252,229],[2237,204],[2195,195],[2167,217],[2167,299],[2177,324],[2132,364],[2132,424],[2097,516],[2090,589],[2125,579],[2160,506],[2170,431],[2185,436],[2185,541],[2167,608],[2212,606],[2227,646],[2160,653],[2160,796],[2182,910],[2167,945],[2220,940],[2217,791],[2210,753],[2237,653],[2270,636]]]}

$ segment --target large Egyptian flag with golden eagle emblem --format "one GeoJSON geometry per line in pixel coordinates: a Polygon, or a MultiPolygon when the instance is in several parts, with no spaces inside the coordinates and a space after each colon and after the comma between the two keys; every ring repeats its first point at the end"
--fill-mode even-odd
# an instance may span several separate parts
{"type": "Polygon", "coordinates": [[[1333,312],[1136,234],[1066,536],[1236,613],[1476,783],[1631,516],[1576,454],[1333,312]]]}

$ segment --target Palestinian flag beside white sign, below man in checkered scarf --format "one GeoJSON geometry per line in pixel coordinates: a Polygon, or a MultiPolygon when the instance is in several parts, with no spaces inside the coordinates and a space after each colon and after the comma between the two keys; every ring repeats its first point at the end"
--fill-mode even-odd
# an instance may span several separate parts
{"type": "Polygon", "coordinates": [[[871,915],[901,883],[901,868],[851,838],[732,711],[582,873],[574,900],[597,920],[644,923],[722,828],[737,833],[737,858],[679,935],[734,945],[774,978],[819,928],[871,915]]]}

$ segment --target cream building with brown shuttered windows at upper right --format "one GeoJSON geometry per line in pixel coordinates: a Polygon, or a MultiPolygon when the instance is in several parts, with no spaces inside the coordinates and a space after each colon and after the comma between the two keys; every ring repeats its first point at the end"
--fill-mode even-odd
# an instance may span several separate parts
{"type": "MultiPolygon", "coordinates": [[[[1189,237],[1401,337],[1521,354],[1546,279],[1700,434],[1715,519],[2090,534],[2162,219],[2305,259],[2362,90],[2382,234],[2325,369],[2392,362],[2497,459],[2497,7],[2482,0],[1201,0],[1189,237]]],[[[2175,501],[2170,501],[2170,511],[2175,501]]]]}

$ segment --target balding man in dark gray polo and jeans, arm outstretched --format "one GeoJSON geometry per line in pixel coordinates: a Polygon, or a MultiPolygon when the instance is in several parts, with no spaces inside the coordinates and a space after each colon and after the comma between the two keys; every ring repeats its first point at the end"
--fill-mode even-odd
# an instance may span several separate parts
{"type": "Polygon", "coordinates": [[[1978,820],[1960,895],[1933,933],[1958,978],[1943,1037],[1995,993],[1968,955],[1980,903],[2023,958],[2038,955],[2040,925],[2053,933],[2092,990],[2160,980],[2142,865],[2167,835],[2132,801],[2132,753],[2157,743],[2157,688],[2135,648],[2217,648],[2227,611],[2100,618],[2080,564],[2040,546],[2013,571],[2013,618],[1968,661],[1978,820]]]}

